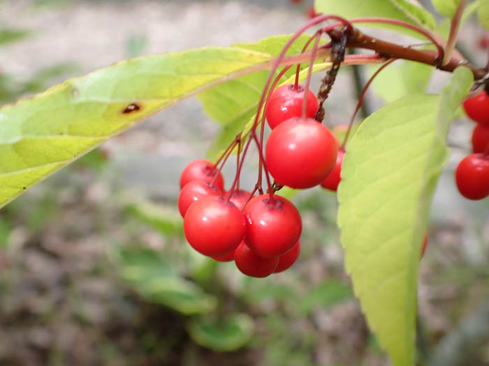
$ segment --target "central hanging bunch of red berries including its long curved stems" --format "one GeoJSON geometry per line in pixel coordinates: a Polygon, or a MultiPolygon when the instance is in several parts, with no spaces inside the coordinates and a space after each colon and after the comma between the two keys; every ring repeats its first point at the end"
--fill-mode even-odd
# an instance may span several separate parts
{"type": "MultiPolygon", "coordinates": [[[[344,146],[356,113],[373,78],[395,59],[382,65],[365,85],[356,110],[350,119],[344,140],[337,138],[322,124],[323,103],[333,87],[346,55],[346,41],[356,33],[350,22],[336,15],[320,15],[310,20],[284,45],[268,75],[258,101],[254,123],[235,137],[217,163],[196,160],[184,168],[180,177],[178,207],[184,217],[187,241],[200,254],[216,261],[235,261],[238,269],[251,277],[267,277],[293,265],[300,254],[302,220],[295,206],[277,195],[283,186],[307,189],[322,186],[336,191],[341,180],[344,146]],[[300,85],[300,64],[295,82],[280,85],[291,68],[279,70],[286,52],[305,29],[335,20],[316,31],[302,48],[303,60],[309,58],[305,85],[300,85]],[[331,42],[321,45],[323,34],[331,42]],[[307,47],[312,45],[311,50],[307,47]],[[322,79],[317,97],[309,91],[312,65],[319,52],[328,50],[331,67],[322,79]],[[264,139],[265,120],[271,132],[264,139]],[[258,130],[258,126],[260,130],[258,130]],[[258,179],[254,189],[240,189],[240,173],[251,143],[258,150],[258,179]],[[236,174],[228,191],[224,190],[221,170],[231,154],[236,155],[236,174]],[[262,180],[265,177],[267,189],[262,180]]],[[[439,47],[440,50],[441,47],[439,47]]],[[[426,238],[423,242],[423,252],[426,238]]]]}

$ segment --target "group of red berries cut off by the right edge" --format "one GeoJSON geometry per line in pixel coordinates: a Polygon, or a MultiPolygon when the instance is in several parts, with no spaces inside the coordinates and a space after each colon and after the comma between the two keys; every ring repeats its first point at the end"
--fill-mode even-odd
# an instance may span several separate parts
{"type": "Polygon", "coordinates": [[[458,191],[469,200],[489,196],[489,96],[483,90],[464,102],[470,119],[476,122],[472,132],[472,152],[455,170],[458,191]]]}

